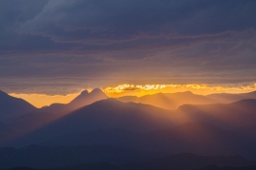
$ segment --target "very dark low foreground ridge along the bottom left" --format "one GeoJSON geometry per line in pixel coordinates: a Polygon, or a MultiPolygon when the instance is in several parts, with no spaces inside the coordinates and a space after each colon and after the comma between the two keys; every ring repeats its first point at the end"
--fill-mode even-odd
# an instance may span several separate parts
{"type": "Polygon", "coordinates": [[[108,145],[43,147],[31,145],[21,149],[0,148],[0,168],[29,166],[53,168],[96,162],[111,164],[150,161],[166,157],[159,152],[143,152],[108,145]]]}

